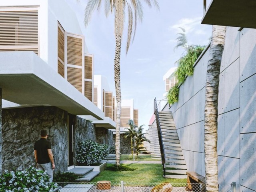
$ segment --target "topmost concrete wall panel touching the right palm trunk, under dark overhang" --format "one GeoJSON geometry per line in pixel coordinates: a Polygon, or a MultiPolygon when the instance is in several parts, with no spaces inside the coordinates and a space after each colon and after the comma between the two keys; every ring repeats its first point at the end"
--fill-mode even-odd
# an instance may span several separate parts
{"type": "Polygon", "coordinates": [[[225,40],[225,47],[222,55],[220,71],[223,71],[240,56],[240,34],[238,27],[227,27],[228,37],[225,40]]]}

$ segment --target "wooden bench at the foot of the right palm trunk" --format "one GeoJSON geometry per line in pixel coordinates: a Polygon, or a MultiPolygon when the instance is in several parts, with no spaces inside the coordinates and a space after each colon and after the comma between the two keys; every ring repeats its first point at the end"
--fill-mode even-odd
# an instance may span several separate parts
{"type": "Polygon", "coordinates": [[[187,186],[186,191],[205,192],[205,177],[196,172],[186,172],[187,186]]]}

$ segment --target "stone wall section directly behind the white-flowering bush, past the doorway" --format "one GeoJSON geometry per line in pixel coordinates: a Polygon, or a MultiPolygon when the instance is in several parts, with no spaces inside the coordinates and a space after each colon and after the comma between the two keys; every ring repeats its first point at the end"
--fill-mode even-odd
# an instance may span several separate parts
{"type": "MultiPolygon", "coordinates": [[[[78,142],[88,139],[96,141],[96,132],[94,124],[92,124],[89,120],[85,120],[83,118],[76,116],[75,138],[73,140],[74,154],[76,154],[78,142]]],[[[76,155],[73,156],[73,162],[76,163],[76,155]]]]}

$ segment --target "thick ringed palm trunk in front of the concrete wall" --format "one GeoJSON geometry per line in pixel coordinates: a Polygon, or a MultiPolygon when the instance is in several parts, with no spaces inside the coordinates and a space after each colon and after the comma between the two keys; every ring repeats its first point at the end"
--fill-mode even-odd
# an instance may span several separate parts
{"type": "Polygon", "coordinates": [[[225,26],[212,26],[212,40],[206,74],[204,108],[204,154],[206,192],[218,192],[218,88],[220,63],[226,36],[225,26]]]}

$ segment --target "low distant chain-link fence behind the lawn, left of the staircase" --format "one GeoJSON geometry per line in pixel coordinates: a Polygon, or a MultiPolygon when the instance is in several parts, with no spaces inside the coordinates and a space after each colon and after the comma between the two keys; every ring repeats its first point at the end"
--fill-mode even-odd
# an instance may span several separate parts
{"type": "Polygon", "coordinates": [[[120,162],[123,164],[130,163],[156,163],[161,164],[161,158],[153,158],[151,154],[121,154],[120,162]]]}

